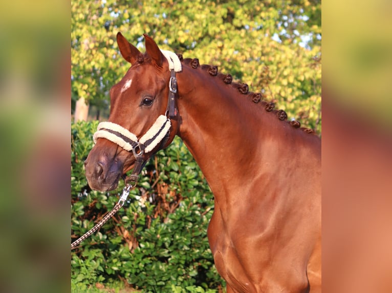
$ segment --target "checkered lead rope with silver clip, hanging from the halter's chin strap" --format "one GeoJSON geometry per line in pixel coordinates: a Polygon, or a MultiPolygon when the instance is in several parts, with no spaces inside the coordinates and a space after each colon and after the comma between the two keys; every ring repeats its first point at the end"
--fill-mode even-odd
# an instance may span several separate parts
{"type": "Polygon", "coordinates": [[[142,166],[144,164],[144,161],[142,160],[142,152],[136,155],[136,166],[132,172],[132,175],[130,176],[130,179],[125,179],[125,187],[122,190],[121,197],[117,204],[114,206],[114,208],[108,212],[102,219],[99,221],[98,224],[96,224],[93,228],[91,228],[88,232],[84,233],[83,236],[81,236],[79,239],[75,240],[74,242],[71,243],[71,249],[74,249],[79,245],[79,243],[86,238],[89,238],[90,235],[92,235],[95,231],[97,231],[99,228],[105,224],[108,219],[110,219],[125,203],[127,197],[129,196],[129,191],[130,189],[133,189],[136,187],[136,184],[138,183],[139,179],[139,173],[142,169],[142,166]],[[130,182],[130,183],[127,183],[130,182]]]}

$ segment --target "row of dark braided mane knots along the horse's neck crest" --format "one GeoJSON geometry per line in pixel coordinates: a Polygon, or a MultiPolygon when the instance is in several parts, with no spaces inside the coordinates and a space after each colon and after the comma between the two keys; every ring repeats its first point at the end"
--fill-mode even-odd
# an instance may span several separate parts
{"type": "Polygon", "coordinates": [[[232,87],[237,89],[239,93],[245,94],[247,97],[249,97],[249,100],[251,100],[253,103],[261,104],[267,112],[272,112],[279,120],[286,121],[286,123],[289,123],[293,128],[299,128],[306,133],[316,134],[313,129],[301,127],[301,123],[297,120],[287,121],[288,116],[285,110],[275,110],[275,103],[264,101],[263,98],[265,96],[263,95],[263,93],[249,91],[249,86],[246,83],[233,82],[233,77],[230,74],[223,74],[221,72],[218,72],[217,66],[209,64],[200,65],[198,58],[183,58],[181,54],[177,54],[177,56],[179,57],[181,63],[183,63],[184,65],[193,69],[201,68],[203,71],[208,72],[210,76],[216,76],[225,84],[231,84],[232,87]]]}

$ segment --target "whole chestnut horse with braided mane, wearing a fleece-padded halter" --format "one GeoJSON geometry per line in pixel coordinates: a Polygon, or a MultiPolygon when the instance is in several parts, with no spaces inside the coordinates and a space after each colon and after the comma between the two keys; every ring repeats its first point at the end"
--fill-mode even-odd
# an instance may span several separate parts
{"type": "Polygon", "coordinates": [[[321,291],[321,139],[216,66],[144,37],[142,54],[117,34],[132,66],[85,161],[91,188],[116,188],[178,135],[214,194],[207,234],[227,292],[321,291]]]}

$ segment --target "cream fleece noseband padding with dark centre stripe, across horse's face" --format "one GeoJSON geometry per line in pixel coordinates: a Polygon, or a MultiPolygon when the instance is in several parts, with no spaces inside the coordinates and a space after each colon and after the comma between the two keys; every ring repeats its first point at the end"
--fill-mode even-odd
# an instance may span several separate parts
{"type": "Polygon", "coordinates": [[[157,120],[155,120],[153,126],[151,126],[139,140],[135,134],[123,128],[121,125],[106,121],[98,124],[98,128],[93,135],[93,139],[94,139],[94,143],[96,143],[98,138],[106,138],[116,143],[124,150],[130,152],[133,150],[133,147],[129,142],[125,141],[124,139],[122,139],[121,137],[117,136],[114,133],[108,132],[107,130],[116,131],[121,135],[129,138],[130,140],[135,141],[136,143],[140,142],[142,144],[144,144],[147,140],[154,138],[154,136],[158,134],[154,140],[149,142],[148,145],[145,145],[144,152],[148,153],[154,150],[155,147],[162,141],[162,139],[169,132],[170,127],[171,127],[170,119],[168,119],[165,115],[160,115],[157,118],[157,120]],[[163,129],[161,130],[161,128],[163,129]]]}

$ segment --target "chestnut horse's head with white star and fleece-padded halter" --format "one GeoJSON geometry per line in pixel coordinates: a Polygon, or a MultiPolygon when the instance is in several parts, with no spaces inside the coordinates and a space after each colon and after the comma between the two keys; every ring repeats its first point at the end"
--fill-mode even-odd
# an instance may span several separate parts
{"type": "Polygon", "coordinates": [[[132,66],[111,88],[110,116],[98,126],[96,144],[84,162],[86,178],[95,190],[115,189],[137,156],[146,162],[177,133],[177,119],[168,117],[170,64],[155,41],[145,34],[144,38],[142,54],[117,34],[120,53],[132,66]]]}

